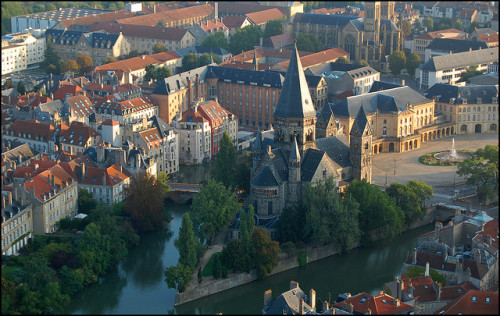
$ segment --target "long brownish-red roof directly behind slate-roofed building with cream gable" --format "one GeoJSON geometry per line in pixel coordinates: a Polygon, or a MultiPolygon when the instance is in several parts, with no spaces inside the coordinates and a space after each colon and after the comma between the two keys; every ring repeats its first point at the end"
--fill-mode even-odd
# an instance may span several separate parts
{"type": "MultiPolygon", "coordinates": [[[[147,17],[147,16],[146,16],[147,17]]],[[[129,37],[154,38],[167,41],[180,41],[188,30],[173,27],[157,27],[154,25],[135,25],[115,22],[96,23],[90,26],[90,31],[104,30],[108,33],[129,37]]]]}

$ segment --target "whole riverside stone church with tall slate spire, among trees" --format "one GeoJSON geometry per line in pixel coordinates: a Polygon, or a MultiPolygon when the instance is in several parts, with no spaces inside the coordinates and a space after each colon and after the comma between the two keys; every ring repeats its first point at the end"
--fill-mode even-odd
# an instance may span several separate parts
{"type": "MultiPolygon", "coordinates": [[[[320,119],[322,115],[323,111],[320,119]]],[[[371,182],[372,129],[363,107],[351,128],[350,142],[342,133],[316,139],[316,123],[295,47],[274,110],[274,145],[265,147],[260,131],[254,143],[247,204],[259,218],[270,219],[297,206],[307,183],[333,177],[342,189],[353,179],[371,182]]]]}

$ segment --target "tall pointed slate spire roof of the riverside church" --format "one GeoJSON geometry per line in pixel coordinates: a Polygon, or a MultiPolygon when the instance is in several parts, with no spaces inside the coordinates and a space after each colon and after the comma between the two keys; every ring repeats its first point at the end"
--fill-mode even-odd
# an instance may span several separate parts
{"type": "Polygon", "coordinates": [[[290,59],[274,116],[294,118],[316,116],[297,46],[290,59]]]}

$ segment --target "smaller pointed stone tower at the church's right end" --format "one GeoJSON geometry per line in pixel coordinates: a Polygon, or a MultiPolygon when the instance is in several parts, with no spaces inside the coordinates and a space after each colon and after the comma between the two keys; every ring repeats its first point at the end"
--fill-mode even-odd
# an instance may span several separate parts
{"type": "Polygon", "coordinates": [[[372,182],[372,131],[363,106],[360,107],[350,132],[352,175],[356,180],[372,182]]]}

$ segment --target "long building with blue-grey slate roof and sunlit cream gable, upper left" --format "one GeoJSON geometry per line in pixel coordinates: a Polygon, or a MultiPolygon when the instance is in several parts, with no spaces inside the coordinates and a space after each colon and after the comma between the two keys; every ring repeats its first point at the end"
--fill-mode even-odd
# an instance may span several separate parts
{"type": "Polygon", "coordinates": [[[130,44],[123,34],[49,29],[45,37],[50,38],[57,55],[65,61],[86,54],[94,64],[100,65],[106,57],[118,58],[130,52],[130,44]]]}

